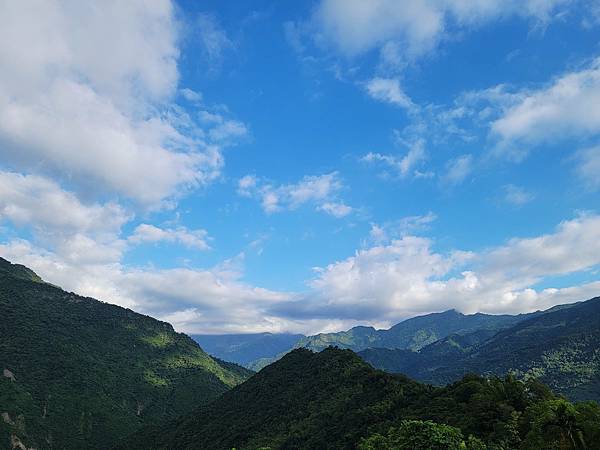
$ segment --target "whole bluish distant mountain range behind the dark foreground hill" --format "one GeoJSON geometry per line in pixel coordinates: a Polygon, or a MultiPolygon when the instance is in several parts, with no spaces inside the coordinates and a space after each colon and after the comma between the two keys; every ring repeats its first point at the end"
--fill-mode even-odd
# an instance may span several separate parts
{"type": "MultiPolygon", "coordinates": [[[[198,337],[202,345],[203,339],[198,337]]],[[[211,345],[222,345],[232,360],[254,370],[294,348],[321,351],[335,346],[358,352],[376,368],[436,385],[451,383],[469,372],[510,372],[521,378],[539,378],[571,399],[600,400],[600,299],[514,316],[465,315],[450,310],[408,319],[388,330],[359,326],[299,339],[297,335],[293,339],[285,335],[211,339],[211,345]],[[245,349],[263,339],[278,346],[265,345],[260,358],[252,360],[256,353],[248,354],[245,349]],[[282,350],[286,342],[291,345],[282,350]]],[[[228,356],[223,351],[217,355],[228,356]]]]}

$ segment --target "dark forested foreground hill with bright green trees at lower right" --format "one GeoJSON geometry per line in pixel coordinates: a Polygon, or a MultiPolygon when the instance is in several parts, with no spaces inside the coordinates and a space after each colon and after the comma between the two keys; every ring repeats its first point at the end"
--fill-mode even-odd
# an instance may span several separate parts
{"type": "Polygon", "coordinates": [[[572,405],[510,377],[467,376],[435,388],[375,370],[350,350],[296,349],[213,403],[116,449],[578,448],[554,445],[568,444],[568,433],[599,444],[598,405],[572,405]]]}

